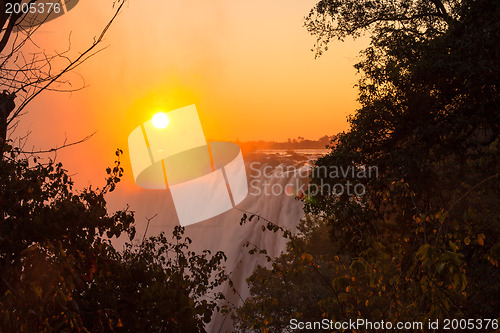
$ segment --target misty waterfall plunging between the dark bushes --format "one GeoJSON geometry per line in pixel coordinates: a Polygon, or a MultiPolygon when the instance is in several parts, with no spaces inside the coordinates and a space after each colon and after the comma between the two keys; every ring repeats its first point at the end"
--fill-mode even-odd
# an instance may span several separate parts
{"type": "MultiPolygon", "coordinates": [[[[297,190],[307,182],[310,164],[303,156],[293,154],[283,157],[279,154],[271,156],[262,154],[245,155],[245,167],[249,183],[248,196],[231,209],[209,220],[189,225],[185,229],[185,236],[193,241],[190,250],[201,252],[223,251],[227,256],[226,271],[230,272],[237,294],[226,284],[222,292],[226,302],[240,306],[249,296],[246,279],[258,266],[269,263],[265,256],[250,255],[251,247],[244,247],[250,242],[261,249],[266,249],[271,257],[277,257],[285,250],[287,239],[280,232],[262,231],[261,226],[267,225],[257,217],[250,222],[240,225],[244,212],[247,215],[256,214],[266,220],[284,227],[292,232],[303,216],[303,204],[296,199],[297,190]]],[[[157,216],[150,221],[147,236],[157,235],[164,231],[167,237],[178,219],[169,191],[136,190],[132,193],[118,193],[112,197],[111,204],[127,202],[136,216],[136,239],[141,240],[146,230],[146,217],[157,216]]],[[[122,207],[118,207],[122,208],[122,207]]],[[[196,207],[193,207],[196,209],[196,207]]],[[[121,243],[122,244],[122,243],[121,243]]],[[[120,242],[115,245],[121,247],[120,242]]],[[[232,331],[232,321],[227,315],[214,314],[212,321],[207,325],[208,332],[232,331]]]]}

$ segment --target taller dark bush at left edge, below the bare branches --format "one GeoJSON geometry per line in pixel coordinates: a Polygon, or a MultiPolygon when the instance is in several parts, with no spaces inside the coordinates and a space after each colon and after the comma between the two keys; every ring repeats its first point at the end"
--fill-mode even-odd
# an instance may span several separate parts
{"type": "Polygon", "coordinates": [[[111,249],[135,235],[133,213],[109,215],[104,196],[123,173],[119,155],[102,189],[73,190],[60,163],[5,144],[0,160],[0,327],[6,332],[85,331],[75,296],[111,249]]]}

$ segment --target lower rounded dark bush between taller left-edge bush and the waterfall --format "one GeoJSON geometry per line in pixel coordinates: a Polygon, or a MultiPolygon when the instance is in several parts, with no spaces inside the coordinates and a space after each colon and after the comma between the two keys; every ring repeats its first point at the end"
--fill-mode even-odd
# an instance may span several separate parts
{"type": "MultiPolygon", "coordinates": [[[[191,240],[183,233],[184,228],[175,227],[173,242],[161,233],[115,252],[83,292],[82,310],[91,314],[95,308],[106,309],[100,315],[120,320],[126,331],[204,331],[224,298],[214,289],[227,279],[221,266],[226,257],[222,252],[212,256],[208,250],[189,251],[191,240]]],[[[84,316],[89,327],[94,319],[84,316]]]]}

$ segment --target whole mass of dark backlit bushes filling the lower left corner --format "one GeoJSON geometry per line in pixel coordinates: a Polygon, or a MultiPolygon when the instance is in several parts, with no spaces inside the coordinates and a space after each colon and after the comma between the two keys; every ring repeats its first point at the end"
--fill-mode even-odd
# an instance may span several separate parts
{"type": "Polygon", "coordinates": [[[184,229],[127,243],[134,214],[109,214],[105,195],[123,175],[117,160],[102,189],[73,190],[60,163],[4,146],[0,159],[0,331],[204,330],[226,275],[223,253],[189,251],[184,229]]]}

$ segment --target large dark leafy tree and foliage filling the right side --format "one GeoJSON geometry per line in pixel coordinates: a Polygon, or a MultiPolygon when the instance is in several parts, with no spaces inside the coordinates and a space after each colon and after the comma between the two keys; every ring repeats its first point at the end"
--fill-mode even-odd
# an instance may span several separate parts
{"type": "Polygon", "coordinates": [[[356,65],[361,107],[316,161],[316,170],[356,172],[312,173],[311,187],[325,190],[304,200],[315,226],[251,276],[240,327],[498,318],[500,3],[325,0],[306,24],[319,51],[330,38],[371,33],[356,65]],[[369,167],[376,175],[356,177],[369,167]],[[325,186],[348,182],[366,192],[325,186]],[[330,243],[317,240],[326,227],[330,243]],[[304,306],[278,297],[300,292],[311,295],[304,306]]]}

